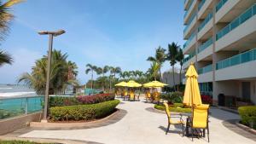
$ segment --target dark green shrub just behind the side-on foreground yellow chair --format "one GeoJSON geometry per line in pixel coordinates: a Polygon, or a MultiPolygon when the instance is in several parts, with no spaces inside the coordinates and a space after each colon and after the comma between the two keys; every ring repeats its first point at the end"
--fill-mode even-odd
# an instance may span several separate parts
{"type": "Polygon", "coordinates": [[[168,101],[168,103],[182,103],[183,102],[183,93],[181,92],[172,92],[167,94],[160,95],[160,98],[168,101]]]}

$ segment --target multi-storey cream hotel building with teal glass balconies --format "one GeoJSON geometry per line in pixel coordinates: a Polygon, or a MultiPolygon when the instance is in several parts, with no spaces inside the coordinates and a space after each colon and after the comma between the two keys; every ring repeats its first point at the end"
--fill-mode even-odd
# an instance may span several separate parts
{"type": "Polygon", "coordinates": [[[256,104],[256,0],[185,0],[184,10],[184,70],[195,63],[215,103],[224,94],[256,104]]]}

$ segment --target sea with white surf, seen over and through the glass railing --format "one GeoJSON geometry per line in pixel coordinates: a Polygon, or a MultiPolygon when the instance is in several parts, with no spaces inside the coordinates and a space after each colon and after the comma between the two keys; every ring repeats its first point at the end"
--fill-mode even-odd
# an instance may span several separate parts
{"type": "Polygon", "coordinates": [[[0,84],[0,119],[42,110],[44,96],[22,85],[0,84]]]}

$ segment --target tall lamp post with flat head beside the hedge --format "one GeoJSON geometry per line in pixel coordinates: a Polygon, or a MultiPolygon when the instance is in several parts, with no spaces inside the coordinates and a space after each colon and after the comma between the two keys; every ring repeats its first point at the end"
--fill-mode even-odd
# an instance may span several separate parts
{"type": "Polygon", "coordinates": [[[52,52],[52,45],[53,45],[53,37],[57,37],[61,34],[65,33],[64,30],[59,30],[56,32],[38,32],[40,35],[49,35],[49,50],[48,50],[48,57],[47,57],[47,75],[46,75],[46,89],[45,89],[45,96],[44,96],[44,118],[42,122],[47,123],[47,115],[48,115],[48,104],[49,104],[49,78],[50,78],[50,64],[51,64],[51,52],[52,52]]]}

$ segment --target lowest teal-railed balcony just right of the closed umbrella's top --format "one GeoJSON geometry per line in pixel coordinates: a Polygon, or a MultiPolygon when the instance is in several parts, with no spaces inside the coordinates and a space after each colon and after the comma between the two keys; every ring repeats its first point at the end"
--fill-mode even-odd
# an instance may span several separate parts
{"type": "Polygon", "coordinates": [[[212,64],[202,67],[198,70],[198,74],[200,75],[198,77],[199,83],[206,83],[206,82],[212,82],[212,64]]]}

